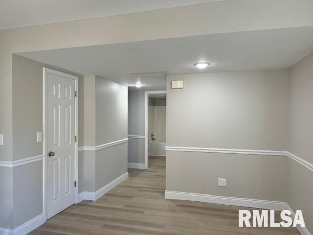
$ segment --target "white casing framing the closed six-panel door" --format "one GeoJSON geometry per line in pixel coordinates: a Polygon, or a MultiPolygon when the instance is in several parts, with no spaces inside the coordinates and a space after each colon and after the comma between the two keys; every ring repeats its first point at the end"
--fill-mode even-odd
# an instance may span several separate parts
{"type": "MultiPolygon", "coordinates": [[[[75,81],[75,91],[78,91],[78,76],[74,76],[65,72],[56,71],[44,67],[43,70],[43,213],[45,220],[47,220],[47,74],[54,74],[61,77],[69,78],[75,81]]],[[[74,96],[75,100],[75,136],[77,137],[74,142],[75,156],[74,156],[74,181],[76,187],[74,191],[74,202],[78,203],[78,95],[74,96]]],[[[74,182],[73,182],[74,183],[74,182]]]]}

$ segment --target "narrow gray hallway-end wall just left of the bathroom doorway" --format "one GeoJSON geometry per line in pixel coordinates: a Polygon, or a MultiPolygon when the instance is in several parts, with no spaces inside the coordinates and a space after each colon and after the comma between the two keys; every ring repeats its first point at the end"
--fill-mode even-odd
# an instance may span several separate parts
{"type": "MultiPolygon", "coordinates": [[[[128,91],[128,135],[145,135],[145,92],[128,91]]],[[[145,140],[129,139],[128,162],[145,163],[145,140]]]]}

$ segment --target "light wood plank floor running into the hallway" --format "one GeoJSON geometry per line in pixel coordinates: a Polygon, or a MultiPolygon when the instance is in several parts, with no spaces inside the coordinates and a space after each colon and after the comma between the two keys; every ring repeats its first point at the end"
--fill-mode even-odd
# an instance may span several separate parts
{"type": "MultiPolygon", "coordinates": [[[[32,235],[299,235],[295,228],[238,228],[240,207],[165,200],[165,158],[97,201],[82,201],[47,220],[32,235]]],[[[252,210],[242,208],[244,210],[252,210]]]]}

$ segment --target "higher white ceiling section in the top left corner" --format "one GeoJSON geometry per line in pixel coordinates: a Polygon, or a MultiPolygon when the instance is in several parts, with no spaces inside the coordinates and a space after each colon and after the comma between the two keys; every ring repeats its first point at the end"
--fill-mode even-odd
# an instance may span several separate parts
{"type": "Polygon", "coordinates": [[[0,30],[221,0],[0,0],[0,30]]]}

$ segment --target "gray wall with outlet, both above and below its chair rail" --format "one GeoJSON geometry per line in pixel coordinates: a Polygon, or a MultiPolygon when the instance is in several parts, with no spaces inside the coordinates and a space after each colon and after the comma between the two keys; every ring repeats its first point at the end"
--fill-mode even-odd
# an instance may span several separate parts
{"type": "MultiPolygon", "coordinates": [[[[167,82],[167,146],[287,148],[287,70],[170,75],[167,82]],[[184,80],[184,88],[172,90],[172,80],[184,80]]],[[[284,201],[286,167],[282,156],[168,151],[166,189],[284,201]],[[226,188],[218,178],[227,178],[226,188]]]]}

